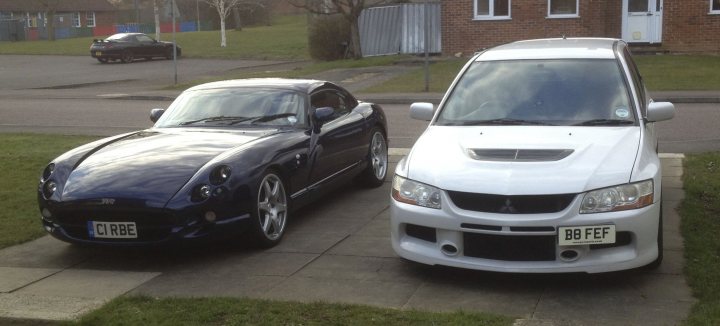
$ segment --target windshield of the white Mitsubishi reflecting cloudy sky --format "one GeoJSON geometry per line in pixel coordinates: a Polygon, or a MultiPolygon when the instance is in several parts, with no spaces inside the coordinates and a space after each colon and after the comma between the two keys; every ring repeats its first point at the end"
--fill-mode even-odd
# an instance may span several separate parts
{"type": "Polygon", "coordinates": [[[474,62],[437,125],[633,125],[615,60],[474,62]]]}

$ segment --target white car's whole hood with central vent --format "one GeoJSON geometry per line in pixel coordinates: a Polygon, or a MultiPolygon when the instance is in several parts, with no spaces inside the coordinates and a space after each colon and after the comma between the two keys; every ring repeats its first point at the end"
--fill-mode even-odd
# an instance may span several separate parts
{"type": "Polygon", "coordinates": [[[572,194],[627,183],[640,128],[431,126],[407,161],[407,177],[445,190],[572,194]]]}

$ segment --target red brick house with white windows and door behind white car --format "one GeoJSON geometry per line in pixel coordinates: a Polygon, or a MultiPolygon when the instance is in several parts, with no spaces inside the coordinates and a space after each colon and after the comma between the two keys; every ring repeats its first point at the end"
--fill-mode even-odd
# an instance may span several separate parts
{"type": "Polygon", "coordinates": [[[720,52],[720,0],[442,0],[441,11],[445,54],[563,35],[720,52]]]}

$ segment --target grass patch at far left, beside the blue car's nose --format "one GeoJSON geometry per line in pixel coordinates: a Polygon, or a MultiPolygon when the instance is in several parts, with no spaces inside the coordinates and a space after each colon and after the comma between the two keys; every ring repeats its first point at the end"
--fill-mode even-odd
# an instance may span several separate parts
{"type": "Polygon", "coordinates": [[[37,208],[38,179],[45,165],[64,151],[93,137],[0,135],[0,248],[45,234],[37,208]]]}

